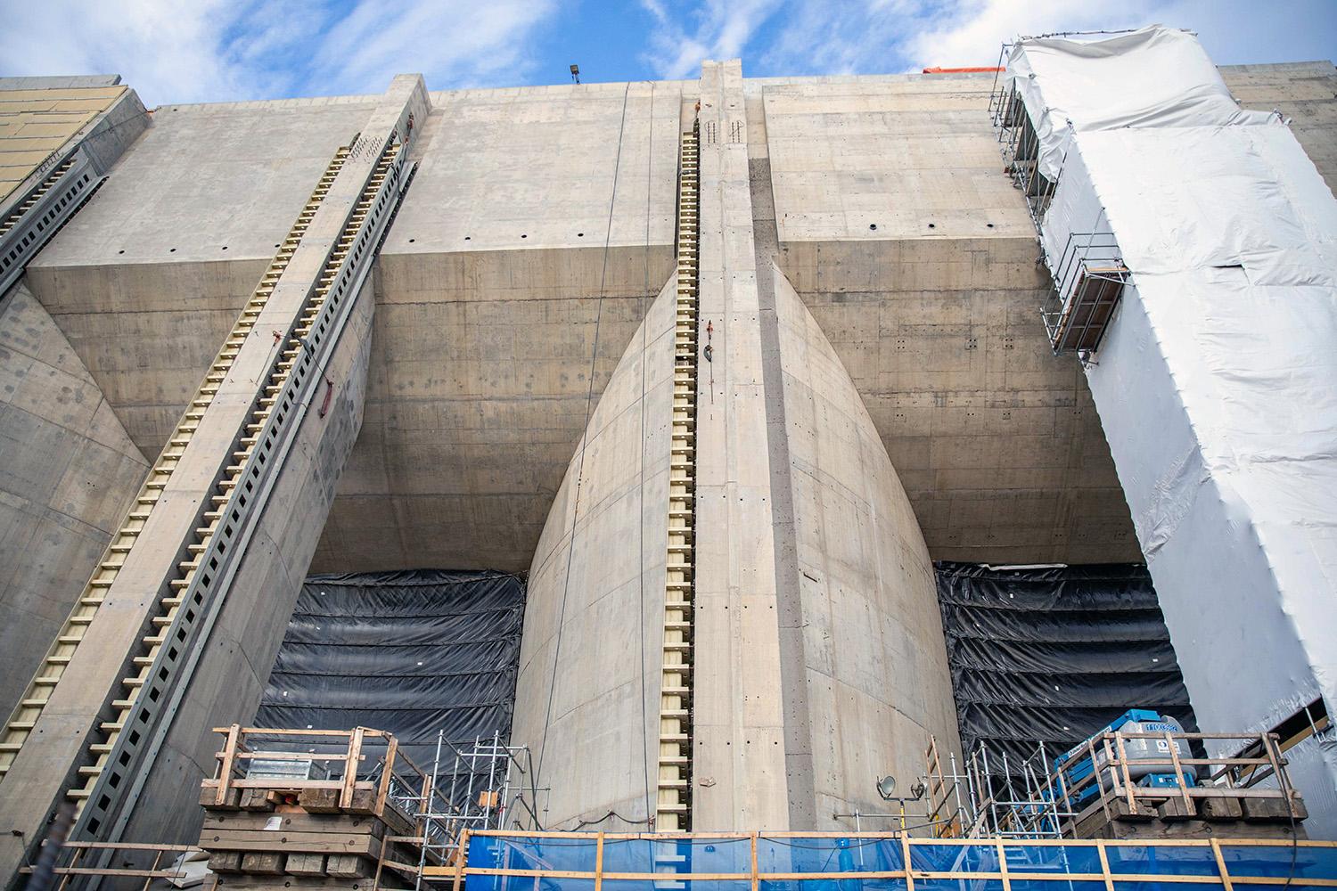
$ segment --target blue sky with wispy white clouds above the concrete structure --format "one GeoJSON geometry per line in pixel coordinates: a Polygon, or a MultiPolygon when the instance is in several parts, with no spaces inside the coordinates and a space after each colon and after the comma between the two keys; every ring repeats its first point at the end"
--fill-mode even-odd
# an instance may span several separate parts
{"type": "Polygon", "coordinates": [[[1218,64],[1337,59],[1337,0],[0,0],[0,76],[119,73],[146,106],[993,65],[1016,35],[1191,28],[1218,64]]]}

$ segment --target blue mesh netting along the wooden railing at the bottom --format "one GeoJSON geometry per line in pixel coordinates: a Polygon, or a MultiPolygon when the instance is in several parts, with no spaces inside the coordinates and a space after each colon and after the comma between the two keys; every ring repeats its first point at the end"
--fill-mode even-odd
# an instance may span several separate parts
{"type": "MultiPolygon", "coordinates": [[[[1008,872],[1052,879],[1011,879],[1012,891],[1104,891],[1104,882],[1072,882],[1070,875],[1099,875],[1100,850],[1091,843],[1003,846],[1008,872]]],[[[1202,891],[1201,883],[1177,876],[1219,876],[1215,855],[1206,846],[1107,844],[1114,875],[1166,876],[1165,880],[1115,882],[1115,891],[1202,891]]],[[[1309,879],[1337,878],[1337,848],[1266,844],[1221,844],[1231,876],[1292,878],[1290,888],[1304,891],[1309,879]]],[[[598,866],[598,839],[568,836],[485,836],[469,839],[469,868],[587,872],[598,866]]],[[[836,874],[897,872],[904,868],[900,839],[766,838],[757,839],[758,891],[906,891],[900,878],[824,878],[836,874]],[[804,874],[796,879],[792,874],[804,874]],[[812,878],[806,878],[812,876],[812,878]]],[[[996,874],[999,848],[993,843],[935,844],[915,840],[910,866],[921,872],[996,874]]],[[[751,842],[709,838],[606,838],[603,891],[751,891],[751,842]],[[616,879],[616,874],[659,874],[664,880],[616,879]],[[737,879],[689,876],[738,875],[737,879]],[[686,879],[686,880],[683,880],[686,879]],[[666,884],[675,882],[675,884],[666,884]]],[[[592,878],[468,876],[468,891],[594,891],[592,878]]],[[[1003,891],[995,878],[917,878],[915,891],[1003,891]]]]}

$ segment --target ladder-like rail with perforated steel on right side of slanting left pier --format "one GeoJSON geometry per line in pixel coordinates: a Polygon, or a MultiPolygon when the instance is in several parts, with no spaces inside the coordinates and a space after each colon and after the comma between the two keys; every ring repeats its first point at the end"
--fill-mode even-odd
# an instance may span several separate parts
{"type": "MultiPolygon", "coordinates": [[[[404,155],[386,139],[306,303],[282,335],[285,349],[274,358],[249,423],[238,433],[234,464],[223,469],[217,494],[206,502],[213,509],[202,514],[203,525],[195,529],[197,541],[189,545],[191,557],[170,580],[171,594],[162,600],[164,609],[152,617],[154,632],[143,639],[140,655],[132,660],[140,672],[122,681],[130,695],[116,700],[114,717],[100,724],[103,741],[88,747],[92,764],[79,768],[86,781],[68,792],[79,808],[74,838],[119,840],[147,776],[142,765],[152,761],[166,739],[170,716],[186,692],[203,641],[322,379],[324,365],[372,269],[404,180],[404,155]],[[112,819],[115,826],[108,830],[112,819]]],[[[253,318],[258,317],[259,310],[253,313],[253,318]]]]}

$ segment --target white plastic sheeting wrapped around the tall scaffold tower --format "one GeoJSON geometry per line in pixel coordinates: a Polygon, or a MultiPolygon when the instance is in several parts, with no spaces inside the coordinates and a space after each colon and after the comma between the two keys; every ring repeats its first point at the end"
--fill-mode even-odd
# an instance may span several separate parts
{"type": "Polygon", "coordinates": [[[1199,724],[1337,713],[1337,200],[1186,32],[1021,41],[1008,76],[1051,267],[1100,231],[1132,274],[1087,377],[1199,724]]]}

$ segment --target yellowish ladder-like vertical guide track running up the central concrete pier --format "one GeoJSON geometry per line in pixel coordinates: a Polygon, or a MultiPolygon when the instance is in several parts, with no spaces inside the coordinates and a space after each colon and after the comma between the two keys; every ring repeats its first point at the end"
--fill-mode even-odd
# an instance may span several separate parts
{"type": "Polygon", "coordinates": [[[655,830],[691,828],[691,618],[697,529],[697,240],[701,124],[682,135],[678,168],[678,271],[674,325],[668,564],[659,685],[659,787],[655,830]]]}

